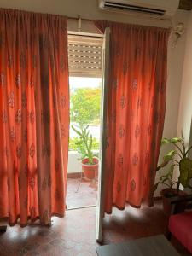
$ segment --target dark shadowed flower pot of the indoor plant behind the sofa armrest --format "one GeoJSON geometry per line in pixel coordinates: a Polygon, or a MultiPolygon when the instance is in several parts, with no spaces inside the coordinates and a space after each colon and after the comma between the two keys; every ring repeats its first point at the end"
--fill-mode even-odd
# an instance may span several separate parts
{"type": "MultiPolygon", "coordinates": [[[[174,196],[186,195],[186,193],[182,190],[177,191],[177,189],[162,189],[160,191],[160,195],[162,196],[164,212],[167,215],[170,215],[171,211],[172,211],[172,206],[170,204],[169,198],[174,197],[174,196]]],[[[183,208],[184,208],[183,203],[180,203],[177,206],[177,212],[182,212],[183,208]]]]}

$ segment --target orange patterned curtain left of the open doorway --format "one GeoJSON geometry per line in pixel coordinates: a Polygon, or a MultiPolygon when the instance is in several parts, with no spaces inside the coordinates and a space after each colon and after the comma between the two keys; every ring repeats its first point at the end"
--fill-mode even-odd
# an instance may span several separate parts
{"type": "Polygon", "coordinates": [[[0,218],[63,216],[69,98],[67,19],[0,9],[0,218]]]}

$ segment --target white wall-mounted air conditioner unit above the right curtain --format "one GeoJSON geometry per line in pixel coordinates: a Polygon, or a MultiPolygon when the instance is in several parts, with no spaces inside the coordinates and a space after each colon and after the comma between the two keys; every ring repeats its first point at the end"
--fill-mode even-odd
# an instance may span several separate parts
{"type": "Polygon", "coordinates": [[[179,0],[98,0],[98,3],[103,10],[165,19],[176,13],[179,0]]]}

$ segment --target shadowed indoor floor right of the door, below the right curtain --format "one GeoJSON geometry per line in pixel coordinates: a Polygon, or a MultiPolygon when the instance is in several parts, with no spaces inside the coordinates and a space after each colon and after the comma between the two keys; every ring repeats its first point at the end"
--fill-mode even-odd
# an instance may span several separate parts
{"type": "MultiPolygon", "coordinates": [[[[167,224],[168,218],[162,210],[161,201],[156,201],[154,207],[150,208],[127,206],[125,211],[113,208],[113,215],[104,218],[104,244],[158,234],[166,236],[167,224]]],[[[173,236],[171,242],[181,256],[191,255],[173,236]]]]}

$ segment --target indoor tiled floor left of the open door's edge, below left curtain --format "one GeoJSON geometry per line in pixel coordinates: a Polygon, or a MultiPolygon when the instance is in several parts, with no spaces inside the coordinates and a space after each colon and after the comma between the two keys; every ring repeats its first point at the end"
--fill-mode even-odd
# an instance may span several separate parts
{"type": "Polygon", "coordinates": [[[95,208],[67,211],[50,228],[15,225],[0,236],[1,256],[93,256],[95,247],[95,208]]]}

